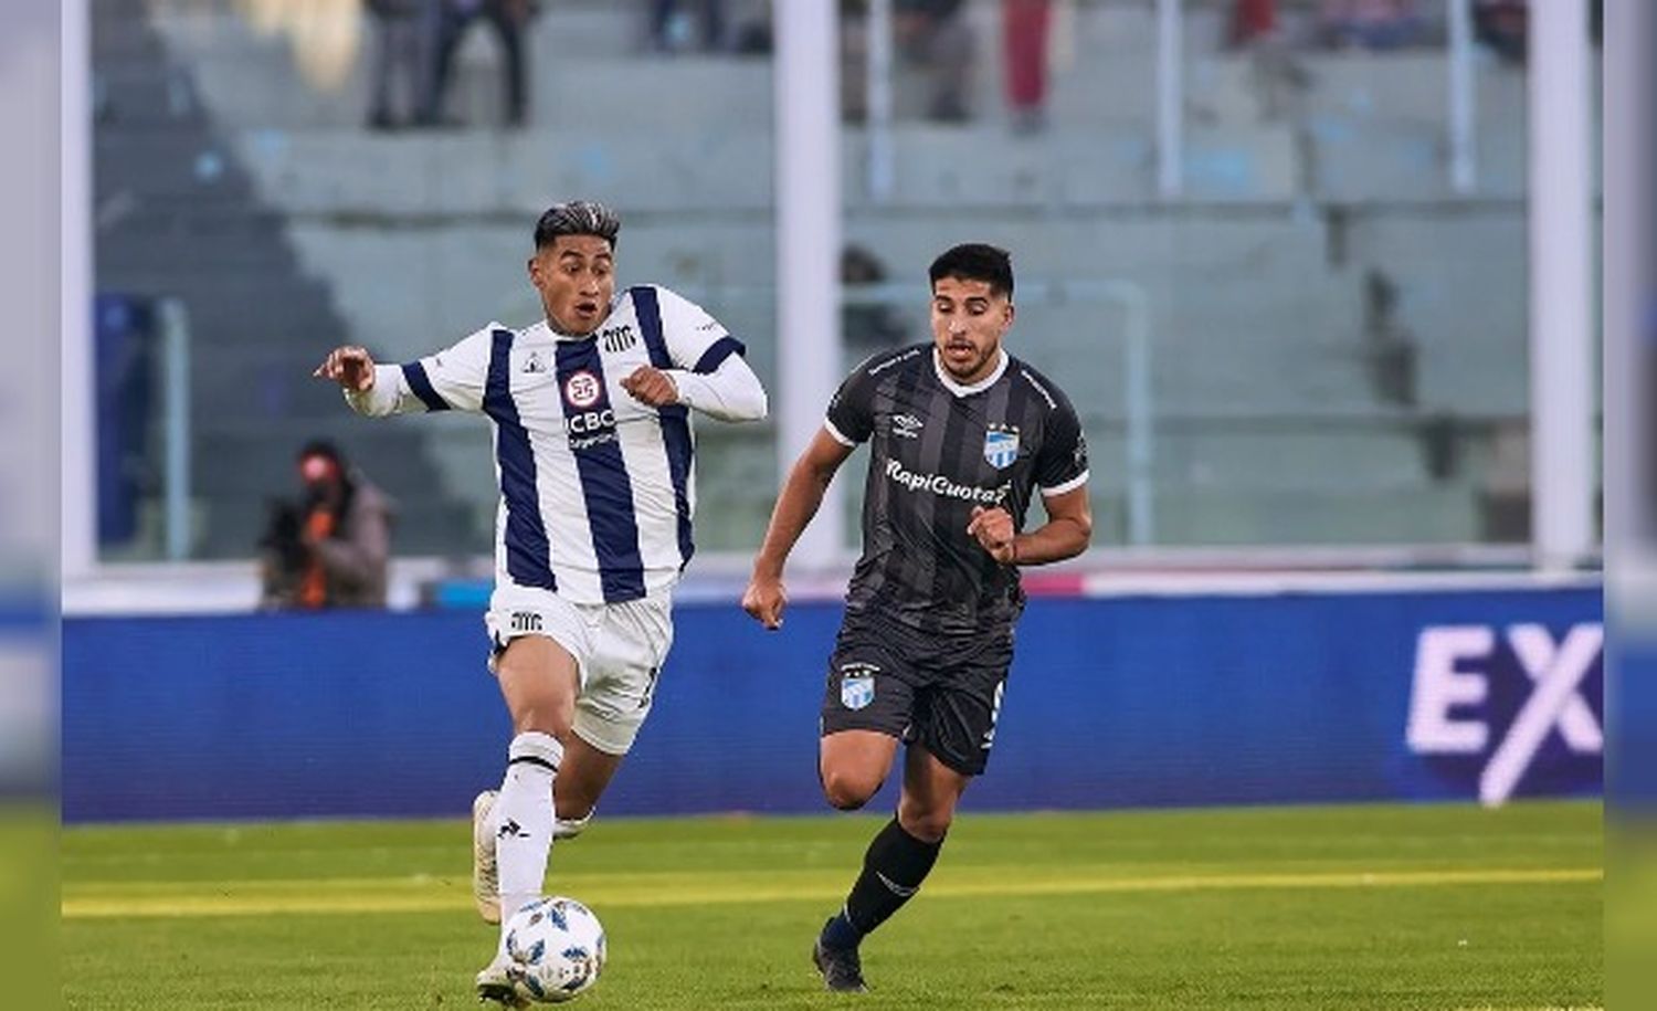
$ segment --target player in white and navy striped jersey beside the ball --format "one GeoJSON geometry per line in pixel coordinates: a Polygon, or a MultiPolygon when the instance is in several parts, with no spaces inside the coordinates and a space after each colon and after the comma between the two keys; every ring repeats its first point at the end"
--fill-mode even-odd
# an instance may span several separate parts
{"type": "MultiPolygon", "coordinates": [[[[490,668],[515,736],[499,791],[472,807],[479,913],[540,897],[555,837],[573,837],[650,713],[673,643],[669,598],[691,560],[691,411],[766,416],[742,345],[668,288],[616,292],[616,214],[568,202],[535,225],[530,283],[547,318],[490,323],[403,365],[336,348],[316,375],[361,414],[471,411],[494,428],[500,507],[490,668]]],[[[499,951],[479,996],[525,999],[499,951]]]]}

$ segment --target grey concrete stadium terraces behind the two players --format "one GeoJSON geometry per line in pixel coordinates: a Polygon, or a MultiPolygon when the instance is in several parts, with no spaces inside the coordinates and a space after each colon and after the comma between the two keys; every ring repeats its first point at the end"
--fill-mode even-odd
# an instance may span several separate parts
{"type": "MultiPolygon", "coordinates": [[[[867,138],[847,131],[847,239],[900,278],[964,237],[1014,249],[1046,292],[1021,303],[1014,346],[1064,376],[1095,433],[1104,544],[1127,535],[1125,404],[1122,318],[1087,293],[1099,280],[1148,307],[1158,540],[1514,537],[1490,497],[1523,457],[1523,71],[1480,60],[1480,189],[1458,197],[1442,50],[1296,53],[1284,91],[1281,70],[1220,45],[1221,7],[1188,17],[1185,199],[1155,194],[1152,7],[1080,3],[1044,134],[1009,134],[994,45],[966,126],[918,121],[900,75],[890,202],[867,192],[867,138]]],[[[638,12],[547,5],[532,129],[489,126],[499,80],[479,33],[454,93],[477,128],[374,134],[366,60],[316,83],[303,33],[245,10],[99,3],[94,25],[99,288],[189,305],[202,555],[245,552],[302,434],[370,461],[404,506],[399,552],[487,547],[479,426],[366,426],[307,376],[341,340],[403,358],[534,318],[517,270],[553,197],[621,207],[625,278],[704,302],[774,381],[769,60],[664,60],[640,46],[638,12]]],[[[993,30],[993,5],[973,17],[993,30]]],[[[336,33],[366,53],[361,25],[336,33]]],[[[916,338],[923,292],[905,307],[916,338]]],[[[766,428],[704,433],[704,547],[752,545],[774,456],[766,428]]]]}

